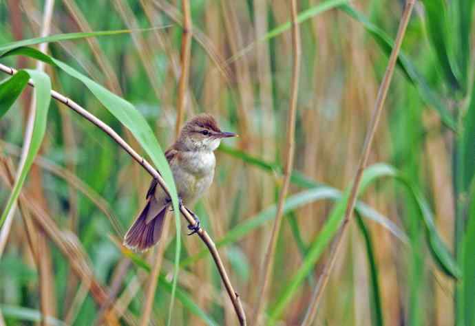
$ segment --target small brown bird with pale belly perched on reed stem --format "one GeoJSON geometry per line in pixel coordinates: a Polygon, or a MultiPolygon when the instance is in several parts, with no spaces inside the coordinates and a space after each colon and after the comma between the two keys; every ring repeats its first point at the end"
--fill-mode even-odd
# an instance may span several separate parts
{"type": "MultiPolygon", "coordinates": [[[[200,114],[184,124],[178,140],[165,151],[182,204],[192,206],[208,190],[216,164],[213,151],[222,138],[235,136],[221,131],[209,114],[200,114]]],[[[158,242],[165,215],[171,209],[171,199],[157,187],[155,179],[151,180],[146,198],[145,208],[124,237],[124,245],[133,250],[144,251],[158,242]]],[[[200,221],[190,213],[196,219],[196,224],[188,226],[192,235],[200,229],[200,221]]]]}

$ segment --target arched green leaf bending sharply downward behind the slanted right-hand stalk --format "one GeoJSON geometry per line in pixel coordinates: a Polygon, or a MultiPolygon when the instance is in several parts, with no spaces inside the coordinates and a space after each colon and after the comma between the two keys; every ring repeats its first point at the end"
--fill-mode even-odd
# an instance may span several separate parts
{"type": "MultiPolygon", "coordinates": [[[[425,199],[421,194],[416,191],[415,187],[406,180],[404,177],[399,175],[396,169],[388,164],[374,164],[368,167],[361,179],[361,185],[359,186],[359,194],[363,193],[367,186],[372,184],[372,182],[380,179],[381,177],[392,177],[395,180],[401,182],[406,186],[406,190],[414,197],[416,203],[419,206],[420,218],[423,220],[426,230],[427,230],[427,243],[432,254],[432,258],[439,263],[441,270],[447,273],[447,275],[457,278],[460,275],[458,267],[450,255],[449,251],[443,244],[443,241],[439,237],[437,230],[434,226],[434,221],[432,219],[432,213],[425,202],[425,199]]],[[[324,227],[321,229],[317,237],[310,244],[308,254],[304,259],[304,262],[300,266],[299,270],[295,273],[295,276],[289,281],[275,301],[275,304],[269,312],[270,323],[275,323],[277,318],[282,314],[286,305],[291,301],[295,293],[297,292],[300,285],[304,281],[304,278],[312,270],[315,263],[317,263],[319,257],[330,244],[330,240],[335,236],[341,221],[344,218],[344,212],[346,209],[346,204],[348,202],[349,190],[344,194],[344,197],[340,199],[335,208],[332,209],[328,220],[324,224],[324,227]]]]}

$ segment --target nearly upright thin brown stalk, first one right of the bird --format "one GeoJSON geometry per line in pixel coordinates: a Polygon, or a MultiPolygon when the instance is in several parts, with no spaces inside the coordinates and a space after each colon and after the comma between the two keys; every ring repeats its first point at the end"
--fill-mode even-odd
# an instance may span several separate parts
{"type": "Polygon", "coordinates": [[[296,0],[291,1],[291,22],[292,22],[292,50],[293,50],[293,67],[292,67],[292,85],[291,85],[291,103],[288,109],[287,120],[287,149],[286,161],[284,167],[284,184],[279,193],[279,202],[277,204],[277,213],[275,215],[274,226],[269,241],[266,256],[264,258],[264,265],[262,266],[262,273],[260,276],[260,291],[255,305],[253,325],[259,324],[259,317],[264,308],[266,301],[266,294],[268,284],[272,279],[272,267],[274,262],[275,246],[277,245],[277,237],[279,235],[280,226],[282,224],[282,217],[284,213],[284,201],[287,195],[288,186],[291,181],[291,173],[294,159],[295,146],[295,116],[297,113],[297,96],[299,87],[299,72],[300,72],[300,33],[297,22],[297,3],[296,0]]]}

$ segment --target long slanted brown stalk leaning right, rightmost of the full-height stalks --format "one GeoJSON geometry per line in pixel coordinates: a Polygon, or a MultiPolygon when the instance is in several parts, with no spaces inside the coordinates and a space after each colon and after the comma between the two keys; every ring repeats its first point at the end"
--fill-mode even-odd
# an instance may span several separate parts
{"type": "Polygon", "coordinates": [[[308,305],[307,312],[305,314],[304,321],[302,325],[308,326],[312,325],[313,320],[315,319],[315,315],[317,314],[317,308],[319,306],[319,302],[321,300],[321,295],[323,294],[326,284],[328,283],[328,279],[332,272],[332,268],[335,265],[335,261],[337,260],[337,254],[339,252],[339,248],[341,247],[342,239],[345,234],[345,231],[348,229],[348,222],[350,221],[353,209],[355,208],[355,203],[358,194],[359,184],[361,183],[361,177],[363,175],[363,171],[366,168],[366,164],[368,162],[368,157],[370,155],[370,149],[372,140],[374,138],[374,133],[376,132],[376,128],[379,122],[379,118],[381,117],[381,112],[383,111],[383,105],[386,100],[386,96],[388,94],[388,89],[392,80],[392,75],[394,74],[394,67],[397,62],[397,56],[399,55],[399,50],[401,49],[401,44],[404,39],[405,30],[408,27],[408,22],[412,13],[412,8],[414,8],[415,0],[406,0],[405,7],[403,11],[403,15],[401,17],[401,21],[399,22],[399,29],[397,31],[396,41],[394,41],[394,47],[392,47],[391,56],[389,58],[388,66],[386,67],[386,72],[383,77],[383,81],[379,87],[378,96],[376,102],[374,103],[374,109],[372,112],[371,121],[368,127],[368,131],[366,133],[366,138],[363,144],[363,150],[361,151],[361,157],[359,160],[359,166],[357,169],[357,173],[355,176],[355,180],[352,183],[350,197],[348,197],[348,204],[346,205],[344,220],[337,232],[335,240],[332,243],[330,248],[330,256],[324,265],[324,269],[319,276],[319,281],[315,286],[315,290],[312,294],[312,298],[310,300],[310,305],[308,305]]]}

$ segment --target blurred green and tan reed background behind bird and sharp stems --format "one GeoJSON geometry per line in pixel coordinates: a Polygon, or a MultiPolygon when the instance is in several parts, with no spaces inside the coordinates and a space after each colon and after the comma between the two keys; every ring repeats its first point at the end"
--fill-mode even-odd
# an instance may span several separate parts
{"type": "MultiPolygon", "coordinates": [[[[0,44],[39,37],[47,2],[1,0],[0,44]]],[[[313,325],[475,325],[472,3],[416,1],[371,149],[373,175],[363,177],[358,213],[313,325]],[[450,270],[452,257],[456,267],[450,270]]],[[[135,30],[50,43],[47,53],[131,102],[166,149],[177,119],[181,1],[53,5],[50,34],[135,30]],[[151,26],[167,27],[138,31],[151,26]]],[[[282,186],[293,56],[290,2],[194,0],[190,6],[184,118],[211,113],[223,130],[240,134],[218,149],[213,186],[195,211],[218,244],[252,323],[282,186]]],[[[302,0],[297,7],[302,67],[294,173],[261,319],[266,323],[272,316],[278,325],[302,323],[328,258],[330,241],[320,254],[311,252],[355,176],[404,1],[302,0]]],[[[1,63],[36,66],[23,56],[1,63]]],[[[83,84],[60,69],[47,66],[45,72],[53,89],[145,155],[83,84]]],[[[0,120],[2,210],[11,191],[7,167],[11,177],[31,98],[26,89],[0,120]]],[[[156,249],[134,255],[120,243],[145,203],[149,181],[103,131],[52,102],[41,150],[22,190],[31,208],[17,210],[10,234],[2,237],[4,323],[36,325],[43,313],[50,325],[139,325],[156,249]],[[24,215],[34,215],[32,228],[24,215]],[[30,250],[28,230],[39,238],[34,245],[39,259],[30,250]]],[[[169,221],[151,325],[166,325],[169,314],[176,244],[171,215],[169,221]]],[[[237,325],[209,252],[184,232],[182,223],[171,325],[237,325]]]]}

